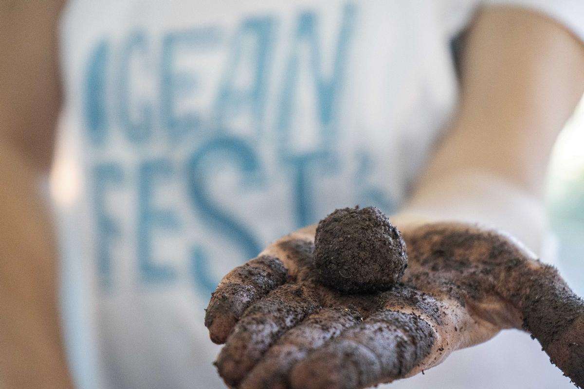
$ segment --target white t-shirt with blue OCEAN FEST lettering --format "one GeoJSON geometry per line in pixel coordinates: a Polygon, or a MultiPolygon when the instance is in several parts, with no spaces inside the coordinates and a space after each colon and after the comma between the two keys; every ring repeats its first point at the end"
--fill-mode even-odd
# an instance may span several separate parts
{"type": "MultiPolygon", "coordinates": [[[[584,36],[580,0],[506,3],[584,36]]],[[[449,122],[451,42],[478,6],[71,1],[54,194],[81,386],[224,388],[203,325],[220,277],[335,208],[397,209],[449,122]]],[[[509,331],[392,387],[570,386],[509,331]]]]}

